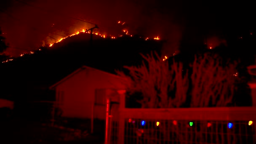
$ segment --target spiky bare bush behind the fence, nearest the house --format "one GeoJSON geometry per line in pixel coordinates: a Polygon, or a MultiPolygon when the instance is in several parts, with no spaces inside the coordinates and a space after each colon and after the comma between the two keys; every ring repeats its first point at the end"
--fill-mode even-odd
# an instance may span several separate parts
{"type": "Polygon", "coordinates": [[[186,101],[188,89],[187,74],[182,76],[182,64],[174,62],[171,67],[168,61],[163,61],[155,52],[151,55],[141,56],[147,61],[142,62],[141,66],[125,66],[130,71],[129,76],[123,72],[117,71],[117,74],[128,79],[127,91],[130,93],[141,92],[144,99],[138,101],[143,108],[167,108],[180,107],[186,101]],[[177,88],[176,96],[171,99],[168,92],[177,88]]]}

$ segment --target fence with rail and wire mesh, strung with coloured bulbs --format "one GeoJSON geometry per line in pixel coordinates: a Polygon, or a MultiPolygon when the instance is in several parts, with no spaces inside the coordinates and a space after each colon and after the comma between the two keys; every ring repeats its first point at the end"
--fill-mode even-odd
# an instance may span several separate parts
{"type": "Polygon", "coordinates": [[[121,98],[108,143],[256,144],[255,123],[256,107],[131,109],[121,98]]]}

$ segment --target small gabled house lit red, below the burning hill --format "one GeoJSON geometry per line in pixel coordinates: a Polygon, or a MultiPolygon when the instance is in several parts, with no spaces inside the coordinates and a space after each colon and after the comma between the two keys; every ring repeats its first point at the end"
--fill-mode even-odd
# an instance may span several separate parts
{"type": "Polygon", "coordinates": [[[114,93],[112,101],[118,102],[116,90],[125,89],[124,80],[123,77],[83,66],[50,89],[56,91],[56,104],[62,111],[61,117],[105,120],[106,96],[114,93]]]}

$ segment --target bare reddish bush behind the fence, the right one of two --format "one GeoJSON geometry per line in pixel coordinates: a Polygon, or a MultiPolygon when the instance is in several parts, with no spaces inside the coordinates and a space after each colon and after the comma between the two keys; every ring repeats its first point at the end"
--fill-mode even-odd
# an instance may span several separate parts
{"type": "Polygon", "coordinates": [[[224,107],[232,103],[236,64],[222,65],[222,59],[216,54],[195,56],[191,64],[191,107],[224,107]]]}

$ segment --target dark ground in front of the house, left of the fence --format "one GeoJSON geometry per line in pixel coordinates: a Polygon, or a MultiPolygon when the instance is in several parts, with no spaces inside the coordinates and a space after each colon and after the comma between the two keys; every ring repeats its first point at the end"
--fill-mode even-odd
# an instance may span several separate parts
{"type": "Polygon", "coordinates": [[[0,122],[0,144],[104,144],[102,122],[96,121],[93,134],[87,129],[90,127],[88,120],[79,128],[81,122],[83,120],[73,120],[77,125],[59,123],[52,127],[50,123],[12,118],[0,122]]]}

